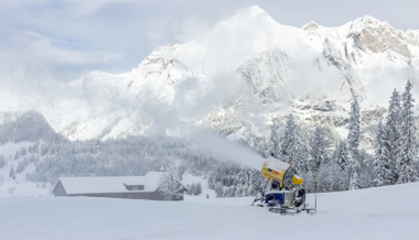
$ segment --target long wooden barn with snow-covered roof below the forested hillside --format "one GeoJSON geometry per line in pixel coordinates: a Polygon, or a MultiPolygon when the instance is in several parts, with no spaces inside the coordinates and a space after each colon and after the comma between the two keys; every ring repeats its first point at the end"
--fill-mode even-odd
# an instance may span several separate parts
{"type": "Polygon", "coordinates": [[[163,172],[150,172],[146,176],[61,177],[54,185],[54,196],[112,197],[149,200],[183,200],[187,190],[176,182],[174,194],[159,189],[163,172]]]}

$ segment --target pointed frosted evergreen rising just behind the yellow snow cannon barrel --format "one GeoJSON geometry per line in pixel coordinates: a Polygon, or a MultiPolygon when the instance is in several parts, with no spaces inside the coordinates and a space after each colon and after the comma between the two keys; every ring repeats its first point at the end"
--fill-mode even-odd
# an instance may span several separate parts
{"type": "Polygon", "coordinates": [[[300,172],[307,172],[307,156],[301,142],[300,128],[296,124],[292,114],[289,114],[283,129],[279,159],[292,164],[300,172]]]}

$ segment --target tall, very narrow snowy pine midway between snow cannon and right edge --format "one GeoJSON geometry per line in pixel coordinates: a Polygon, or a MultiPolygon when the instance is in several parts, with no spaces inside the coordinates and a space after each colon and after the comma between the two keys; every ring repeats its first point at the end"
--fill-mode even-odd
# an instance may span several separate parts
{"type": "Polygon", "coordinates": [[[359,105],[354,97],[351,105],[350,132],[347,134],[347,143],[350,148],[351,159],[348,161],[350,171],[350,190],[359,188],[359,142],[361,142],[361,114],[359,105]]]}

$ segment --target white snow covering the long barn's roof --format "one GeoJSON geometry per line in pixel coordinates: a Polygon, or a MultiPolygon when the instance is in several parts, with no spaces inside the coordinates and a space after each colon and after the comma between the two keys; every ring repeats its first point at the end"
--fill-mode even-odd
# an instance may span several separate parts
{"type": "MultiPolygon", "coordinates": [[[[163,172],[149,172],[146,176],[60,177],[67,194],[154,192],[163,172]],[[132,185],[143,185],[143,190],[128,190],[132,185]]],[[[55,189],[55,186],[54,186],[55,189]]]]}

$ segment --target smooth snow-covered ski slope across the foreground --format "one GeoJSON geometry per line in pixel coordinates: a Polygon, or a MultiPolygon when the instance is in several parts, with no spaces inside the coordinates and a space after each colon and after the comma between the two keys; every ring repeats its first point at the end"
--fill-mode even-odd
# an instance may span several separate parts
{"type": "Polygon", "coordinates": [[[280,216],[248,197],[3,197],[0,239],[417,239],[418,198],[419,183],[318,194],[316,215],[280,216]]]}

